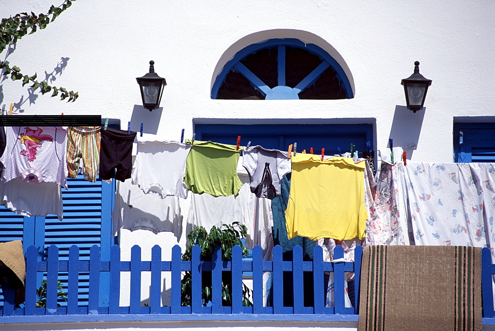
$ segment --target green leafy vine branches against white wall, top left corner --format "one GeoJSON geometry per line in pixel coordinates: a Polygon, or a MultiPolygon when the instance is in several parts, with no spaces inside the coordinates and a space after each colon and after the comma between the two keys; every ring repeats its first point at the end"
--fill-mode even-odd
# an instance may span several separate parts
{"type": "MultiPolygon", "coordinates": [[[[9,44],[16,43],[19,39],[26,35],[35,33],[38,28],[43,30],[47,25],[55,20],[63,11],[72,5],[72,1],[65,0],[61,5],[55,7],[51,5],[48,13],[36,15],[35,13],[19,13],[10,16],[9,18],[2,18],[0,23],[0,53],[3,52],[9,44]]],[[[12,81],[21,81],[22,86],[33,83],[30,85],[33,91],[40,89],[42,94],[52,92],[51,96],[57,96],[60,93],[60,100],[76,101],[79,94],[74,91],[67,91],[64,87],[50,86],[47,81],[38,82],[36,80],[37,74],[32,76],[24,75],[21,73],[21,69],[17,66],[10,66],[8,62],[0,61],[0,72],[3,70],[3,76],[10,75],[12,81]]]]}

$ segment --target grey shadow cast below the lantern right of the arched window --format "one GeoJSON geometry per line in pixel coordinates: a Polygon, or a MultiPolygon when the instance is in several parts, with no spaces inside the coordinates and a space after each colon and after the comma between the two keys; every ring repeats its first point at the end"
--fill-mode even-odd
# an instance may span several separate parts
{"type": "Polygon", "coordinates": [[[407,160],[418,146],[425,111],[426,107],[413,113],[406,106],[396,106],[389,138],[394,139],[394,146],[407,152],[407,160]]]}

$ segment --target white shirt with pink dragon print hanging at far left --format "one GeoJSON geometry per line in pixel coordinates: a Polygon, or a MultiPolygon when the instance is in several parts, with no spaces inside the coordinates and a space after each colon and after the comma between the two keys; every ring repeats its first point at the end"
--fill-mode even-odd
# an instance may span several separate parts
{"type": "Polygon", "coordinates": [[[21,178],[31,183],[53,182],[67,189],[66,136],[61,126],[6,128],[7,143],[0,161],[1,180],[21,178]]]}

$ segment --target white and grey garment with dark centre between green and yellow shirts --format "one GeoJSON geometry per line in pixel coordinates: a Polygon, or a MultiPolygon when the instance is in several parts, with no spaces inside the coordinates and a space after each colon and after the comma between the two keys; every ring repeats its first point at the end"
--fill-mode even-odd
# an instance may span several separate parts
{"type": "Polygon", "coordinates": [[[243,165],[249,175],[251,192],[259,198],[280,195],[280,181],[291,171],[287,152],[253,146],[244,152],[243,165]]]}

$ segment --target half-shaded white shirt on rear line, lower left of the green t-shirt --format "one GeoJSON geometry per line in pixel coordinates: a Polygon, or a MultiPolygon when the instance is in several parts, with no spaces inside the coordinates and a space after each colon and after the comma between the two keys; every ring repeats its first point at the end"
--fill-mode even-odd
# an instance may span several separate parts
{"type": "Polygon", "coordinates": [[[182,235],[179,198],[168,196],[161,199],[153,194],[145,194],[129,180],[117,182],[112,222],[114,236],[119,228],[148,230],[155,234],[173,232],[177,240],[182,235]]]}

